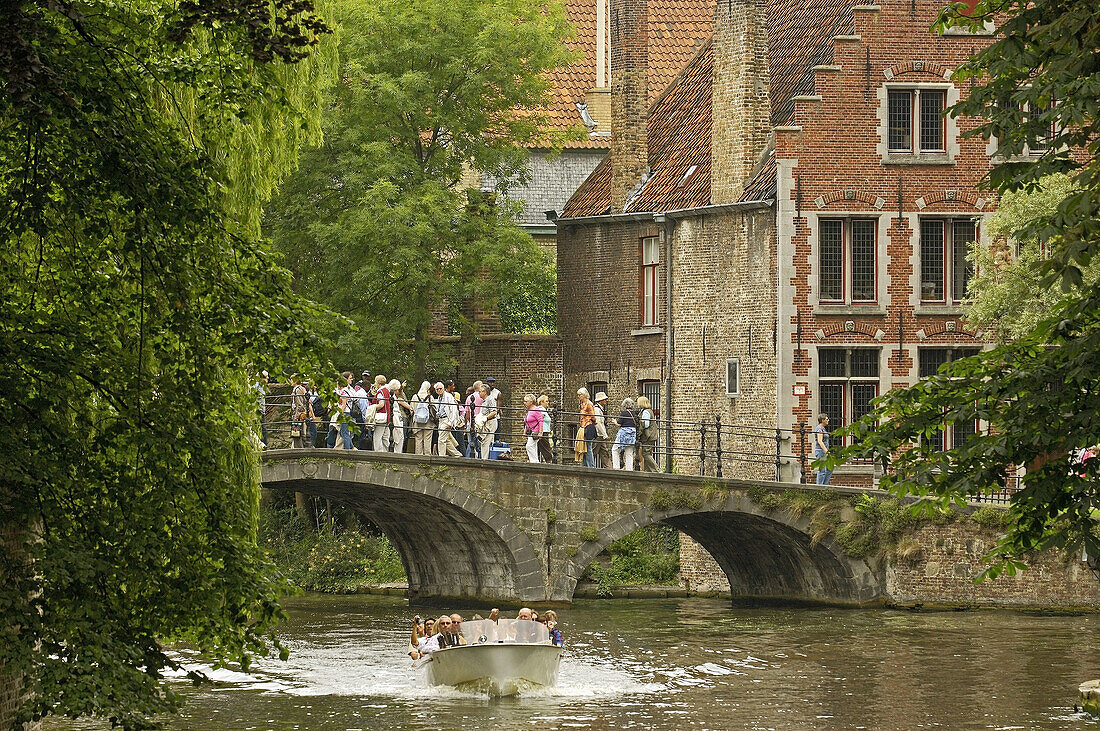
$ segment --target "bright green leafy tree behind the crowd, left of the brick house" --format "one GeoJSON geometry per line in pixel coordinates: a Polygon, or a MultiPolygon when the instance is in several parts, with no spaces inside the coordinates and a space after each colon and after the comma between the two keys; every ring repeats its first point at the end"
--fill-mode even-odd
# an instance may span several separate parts
{"type": "Polygon", "coordinates": [[[522,180],[526,146],[554,143],[537,109],[546,71],[570,58],[569,25],[547,0],[344,0],[338,20],[324,145],[265,224],[298,291],[354,321],[329,333],[333,361],[424,373],[433,312],[470,335],[471,307],[552,272],[514,211],[463,179],[522,180]]]}

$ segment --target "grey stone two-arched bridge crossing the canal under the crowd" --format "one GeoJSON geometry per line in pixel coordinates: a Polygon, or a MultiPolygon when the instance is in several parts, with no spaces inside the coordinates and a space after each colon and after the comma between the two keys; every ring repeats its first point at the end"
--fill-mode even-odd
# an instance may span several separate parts
{"type": "Polygon", "coordinates": [[[339,500],[394,542],[418,601],[568,602],[612,542],[667,523],[701,543],[735,599],[867,605],[881,567],[812,540],[758,490],[853,488],[343,450],[273,450],[262,484],[339,500]]]}

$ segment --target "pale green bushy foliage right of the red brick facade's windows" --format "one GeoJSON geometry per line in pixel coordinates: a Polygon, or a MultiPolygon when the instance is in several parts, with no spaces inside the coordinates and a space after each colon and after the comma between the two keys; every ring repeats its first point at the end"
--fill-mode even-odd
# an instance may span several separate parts
{"type": "MultiPolygon", "coordinates": [[[[1053,215],[1072,192],[1069,176],[1055,174],[1038,180],[1034,190],[1010,190],[1001,197],[986,225],[988,241],[970,252],[976,274],[967,290],[966,318],[974,328],[990,330],[1004,342],[1026,336],[1050,317],[1064,297],[1062,287],[1043,283],[1044,245],[1034,236],[1019,239],[1016,232],[1053,215]]],[[[1088,283],[1100,280],[1100,259],[1084,273],[1088,283]]]]}

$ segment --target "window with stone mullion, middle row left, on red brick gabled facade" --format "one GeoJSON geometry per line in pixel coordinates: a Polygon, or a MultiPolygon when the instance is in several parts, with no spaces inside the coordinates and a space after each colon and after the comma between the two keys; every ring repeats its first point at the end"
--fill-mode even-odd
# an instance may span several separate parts
{"type": "Polygon", "coordinates": [[[818,224],[821,301],[873,302],[877,299],[878,221],[822,219],[818,224]]]}

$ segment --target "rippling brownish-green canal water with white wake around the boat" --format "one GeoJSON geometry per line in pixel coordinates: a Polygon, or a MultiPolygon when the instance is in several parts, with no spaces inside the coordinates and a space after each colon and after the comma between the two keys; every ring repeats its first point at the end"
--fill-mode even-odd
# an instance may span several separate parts
{"type": "Polygon", "coordinates": [[[289,662],[216,672],[168,728],[1100,729],[1072,709],[1100,677],[1097,617],[581,601],[560,612],[559,686],[491,699],[426,686],[404,601],[288,608],[289,662]]]}

